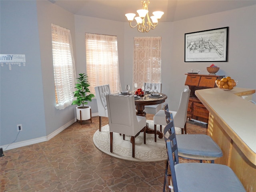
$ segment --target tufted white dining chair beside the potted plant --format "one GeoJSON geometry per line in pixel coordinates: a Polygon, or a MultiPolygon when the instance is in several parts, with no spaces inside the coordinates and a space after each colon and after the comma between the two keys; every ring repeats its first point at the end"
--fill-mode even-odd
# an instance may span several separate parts
{"type": "Polygon", "coordinates": [[[96,100],[98,106],[99,131],[101,131],[102,117],[108,117],[106,95],[110,94],[110,86],[106,84],[102,86],[96,86],[94,89],[96,93],[96,100]]]}

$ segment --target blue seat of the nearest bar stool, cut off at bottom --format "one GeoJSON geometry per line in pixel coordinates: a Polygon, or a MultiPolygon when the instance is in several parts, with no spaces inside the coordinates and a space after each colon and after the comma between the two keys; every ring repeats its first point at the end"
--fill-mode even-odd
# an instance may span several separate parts
{"type": "Polygon", "coordinates": [[[179,192],[246,192],[226,165],[180,163],[174,169],[179,192]]]}

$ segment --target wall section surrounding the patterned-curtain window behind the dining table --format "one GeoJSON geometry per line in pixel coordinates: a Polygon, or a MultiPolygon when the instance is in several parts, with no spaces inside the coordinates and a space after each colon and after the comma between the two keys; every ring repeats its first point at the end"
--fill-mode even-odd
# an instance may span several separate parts
{"type": "MultiPolygon", "coordinates": [[[[133,63],[133,47],[134,47],[134,37],[140,36],[160,36],[162,37],[162,92],[168,96],[166,100],[170,103],[170,99],[173,97],[174,90],[172,90],[173,78],[170,76],[170,68],[172,62],[172,51],[174,46],[173,42],[173,23],[172,22],[159,22],[158,26],[154,30],[149,32],[138,32],[136,28],[131,28],[129,23],[124,23],[125,31],[125,43],[124,43],[124,84],[122,88],[125,89],[126,84],[132,85],[132,63],[133,63]]],[[[176,66],[177,68],[179,66],[176,66]]],[[[173,70],[173,69],[172,69],[173,70]]],[[[184,90],[186,86],[184,84],[180,90],[184,90]]],[[[178,91],[180,94],[180,91],[178,91]]]]}

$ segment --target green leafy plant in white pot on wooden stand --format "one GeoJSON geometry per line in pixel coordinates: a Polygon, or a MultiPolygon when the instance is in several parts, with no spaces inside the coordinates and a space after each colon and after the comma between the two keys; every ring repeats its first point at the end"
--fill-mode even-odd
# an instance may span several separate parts
{"type": "Polygon", "coordinates": [[[87,101],[92,101],[94,94],[89,94],[88,76],[84,73],[80,73],[79,76],[79,78],[76,78],[78,83],[75,88],[77,90],[73,92],[76,100],[72,102],[72,105],[78,105],[76,107],[76,120],[80,120],[82,124],[83,120],[91,120],[91,107],[86,106],[86,104],[88,103],[87,101]]]}

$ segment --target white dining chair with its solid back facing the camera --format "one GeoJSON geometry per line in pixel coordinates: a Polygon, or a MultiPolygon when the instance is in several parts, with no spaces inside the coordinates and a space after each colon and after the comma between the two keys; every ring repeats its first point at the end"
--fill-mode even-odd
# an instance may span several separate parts
{"type": "MultiPolygon", "coordinates": [[[[110,152],[113,152],[113,132],[131,136],[132,157],[135,157],[135,138],[143,131],[146,144],[146,117],[137,116],[133,95],[106,95],[110,130],[110,152]]],[[[124,141],[126,142],[126,141],[124,141]]]]}

